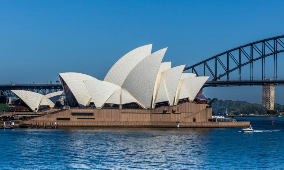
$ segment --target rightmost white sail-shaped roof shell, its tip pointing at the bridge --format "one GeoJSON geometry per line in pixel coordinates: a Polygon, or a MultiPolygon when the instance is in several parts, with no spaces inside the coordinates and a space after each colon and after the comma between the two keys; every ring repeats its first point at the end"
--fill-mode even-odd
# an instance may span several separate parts
{"type": "Polygon", "coordinates": [[[202,88],[202,86],[208,79],[209,77],[205,76],[205,77],[189,77],[183,80],[188,92],[189,101],[194,100],[199,90],[202,88]]]}

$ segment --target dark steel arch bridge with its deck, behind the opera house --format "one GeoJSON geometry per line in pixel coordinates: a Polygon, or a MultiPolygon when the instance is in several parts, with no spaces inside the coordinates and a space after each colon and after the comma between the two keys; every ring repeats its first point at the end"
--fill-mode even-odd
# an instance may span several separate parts
{"type": "MultiPolygon", "coordinates": [[[[279,55],[284,52],[283,42],[284,35],[249,43],[210,57],[192,66],[186,66],[184,72],[192,72],[197,76],[210,76],[211,79],[203,87],[284,85],[284,80],[277,79],[277,73],[279,71],[283,72],[282,67],[277,67],[279,65],[277,60],[281,58],[279,55]],[[268,58],[272,58],[272,62],[266,63],[268,58]],[[261,68],[260,71],[259,68],[261,68]],[[273,76],[273,78],[268,78],[270,81],[267,81],[266,68],[273,72],[273,75],[270,76],[273,76]],[[260,75],[260,72],[261,78],[255,79],[254,75],[260,75]],[[247,76],[248,80],[242,79],[242,75],[247,76]]],[[[283,65],[283,63],[281,64],[283,65]]],[[[63,88],[59,82],[56,84],[11,83],[9,85],[0,85],[0,96],[15,96],[11,90],[29,90],[45,95],[63,90],[63,88]]]]}

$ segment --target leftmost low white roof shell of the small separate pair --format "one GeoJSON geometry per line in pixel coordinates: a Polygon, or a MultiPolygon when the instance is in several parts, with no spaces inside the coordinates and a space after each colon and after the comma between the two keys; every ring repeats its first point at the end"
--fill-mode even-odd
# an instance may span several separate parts
{"type": "Polygon", "coordinates": [[[39,104],[43,97],[42,94],[27,90],[11,90],[11,91],[15,95],[17,95],[24,103],[26,103],[32,111],[35,111],[36,108],[39,109],[39,104]]]}

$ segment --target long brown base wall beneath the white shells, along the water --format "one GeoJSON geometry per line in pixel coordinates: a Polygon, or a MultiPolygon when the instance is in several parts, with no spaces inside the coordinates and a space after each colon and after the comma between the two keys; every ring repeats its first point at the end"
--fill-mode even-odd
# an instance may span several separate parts
{"type": "Polygon", "coordinates": [[[156,109],[66,109],[47,113],[43,116],[23,121],[43,127],[45,124],[59,124],[59,127],[240,127],[239,122],[208,122],[212,119],[212,109],[207,104],[192,102],[176,106],[162,106],[156,109]],[[73,116],[72,113],[91,113],[92,116],[73,116]],[[58,119],[70,120],[58,120],[58,119]],[[221,124],[225,123],[225,124],[221,124]]]}

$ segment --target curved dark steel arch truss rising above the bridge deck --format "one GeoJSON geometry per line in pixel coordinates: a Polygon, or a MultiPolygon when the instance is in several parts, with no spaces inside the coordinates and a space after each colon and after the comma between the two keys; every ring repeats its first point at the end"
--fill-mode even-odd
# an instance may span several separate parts
{"type": "Polygon", "coordinates": [[[273,55],[273,80],[277,80],[277,54],[281,52],[284,52],[284,35],[256,41],[225,51],[200,63],[186,67],[184,71],[191,69],[191,72],[196,73],[197,76],[210,75],[212,77],[211,81],[218,81],[226,76],[226,80],[229,81],[229,73],[238,70],[238,81],[241,81],[241,68],[249,64],[250,81],[253,81],[253,62],[262,60],[261,79],[265,80],[265,58],[273,55]],[[211,63],[211,65],[208,63],[211,63]],[[214,63],[215,67],[212,66],[212,63],[214,63]],[[202,70],[198,70],[197,67],[202,67],[202,70]],[[222,70],[221,73],[220,70],[222,70]]]}

